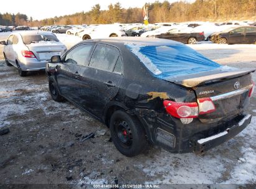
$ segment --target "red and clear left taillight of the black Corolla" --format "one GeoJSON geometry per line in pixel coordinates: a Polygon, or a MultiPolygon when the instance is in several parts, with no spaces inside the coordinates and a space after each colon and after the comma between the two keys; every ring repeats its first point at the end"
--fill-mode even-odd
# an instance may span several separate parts
{"type": "Polygon", "coordinates": [[[164,100],[167,113],[175,118],[197,118],[199,114],[212,113],[216,110],[211,98],[199,98],[198,103],[177,103],[164,100]]]}

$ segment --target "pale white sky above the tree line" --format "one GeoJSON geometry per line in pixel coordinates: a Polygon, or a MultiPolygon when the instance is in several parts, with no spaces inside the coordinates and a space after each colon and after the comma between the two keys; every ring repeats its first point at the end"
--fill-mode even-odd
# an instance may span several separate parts
{"type": "MultiPolygon", "coordinates": [[[[102,10],[107,9],[110,3],[120,2],[122,7],[143,7],[145,2],[154,2],[156,0],[1,0],[0,12],[14,13],[20,12],[33,19],[45,19],[54,16],[63,16],[75,12],[90,11],[92,6],[100,4],[102,10]]],[[[178,0],[169,0],[176,2],[178,0]]],[[[181,1],[181,0],[179,0],[181,1]]],[[[192,1],[192,0],[187,0],[192,1]]],[[[163,2],[163,0],[160,0],[163,2]]]]}

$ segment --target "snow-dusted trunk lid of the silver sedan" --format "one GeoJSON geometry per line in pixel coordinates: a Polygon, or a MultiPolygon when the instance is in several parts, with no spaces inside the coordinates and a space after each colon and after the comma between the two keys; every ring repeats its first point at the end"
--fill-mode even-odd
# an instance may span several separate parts
{"type": "Polygon", "coordinates": [[[60,42],[39,42],[35,44],[26,45],[30,51],[36,55],[38,60],[50,60],[54,55],[61,55],[66,47],[60,42]]]}

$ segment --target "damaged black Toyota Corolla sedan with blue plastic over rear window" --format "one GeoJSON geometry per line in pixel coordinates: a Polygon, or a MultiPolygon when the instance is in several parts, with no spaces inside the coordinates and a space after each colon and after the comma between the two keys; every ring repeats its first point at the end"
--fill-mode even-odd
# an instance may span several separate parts
{"type": "Polygon", "coordinates": [[[126,156],[148,143],[201,153],[234,137],[252,117],[245,110],[254,70],[222,67],[173,40],[87,40],[52,57],[46,71],[52,98],[105,123],[126,156]]]}

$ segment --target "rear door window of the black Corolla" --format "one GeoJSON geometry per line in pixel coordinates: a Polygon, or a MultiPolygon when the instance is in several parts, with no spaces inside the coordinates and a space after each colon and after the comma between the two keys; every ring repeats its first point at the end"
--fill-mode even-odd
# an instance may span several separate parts
{"type": "Polygon", "coordinates": [[[90,67],[100,70],[113,71],[119,52],[110,45],[98,44],[90,60],[90,67]]]}

